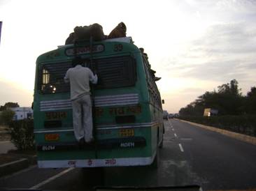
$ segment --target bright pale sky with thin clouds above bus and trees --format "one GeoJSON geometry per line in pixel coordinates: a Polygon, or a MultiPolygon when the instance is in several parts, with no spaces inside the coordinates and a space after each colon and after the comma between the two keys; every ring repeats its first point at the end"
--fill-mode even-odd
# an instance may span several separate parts
{"type": "Polygon", "coordinates": [[[0,0],[0,21],[0,105],[31,106],[36,58],[93,23],[108,35],[125,22],[169,113],[232,79],[243,95],[256,86],[254,0],[0,0]]]}

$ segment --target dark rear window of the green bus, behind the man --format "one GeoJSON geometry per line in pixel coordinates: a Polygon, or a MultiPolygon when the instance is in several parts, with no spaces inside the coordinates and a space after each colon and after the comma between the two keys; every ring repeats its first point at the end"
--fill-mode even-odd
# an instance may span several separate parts
{"type": "MultiPolygon", "coordinates": [[[[131,56],[111,57],[89,61],[85,66],[97,69],[99,82],[97,89],[114,89],[134,86],[136,63],[131,56]]],[[[39,68],[38,87],[42,93],[64,93],[69,91],[69,83],[64,82],[71,62],[46,63],[39,68]]]]}

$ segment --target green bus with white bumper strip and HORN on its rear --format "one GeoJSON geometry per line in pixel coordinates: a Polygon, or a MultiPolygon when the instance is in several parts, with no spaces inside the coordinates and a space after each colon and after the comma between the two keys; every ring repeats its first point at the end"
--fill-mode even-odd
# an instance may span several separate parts
{"type": "Polygon", "coordinates": [[[157,161],[164,134],[162,100],[146,54],[130,37],[84,41],[38,56],[34,135],[38,167],[116,167],[157,161]],[[64,75],[80,56],[97,69],[92,87],[95,144],[73,134],[70,86],[64,75]]]}

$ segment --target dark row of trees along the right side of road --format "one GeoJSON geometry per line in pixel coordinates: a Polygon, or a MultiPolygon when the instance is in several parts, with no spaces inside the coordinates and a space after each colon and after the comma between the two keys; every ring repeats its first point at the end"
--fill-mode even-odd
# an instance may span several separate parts
{"type": "Polygon", "coordinates": [[[256,114],[256,87],[242,95],[239,82],[218,86],[217,91],[206,91],[197,100],[180,109],[180,116],[203,116],[205,108],[218,109],[218,115],[256,114]]]}

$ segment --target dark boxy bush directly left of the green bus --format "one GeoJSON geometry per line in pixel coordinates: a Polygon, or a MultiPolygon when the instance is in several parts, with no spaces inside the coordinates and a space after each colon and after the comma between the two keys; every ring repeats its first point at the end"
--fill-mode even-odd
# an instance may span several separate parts
{"type": "Polygon", "coordinates": [[[10,123],[10,141],[18,150],[27,151],[35,148],[34,121],[23,119],[10,123]]]}

